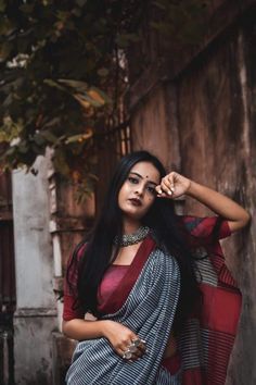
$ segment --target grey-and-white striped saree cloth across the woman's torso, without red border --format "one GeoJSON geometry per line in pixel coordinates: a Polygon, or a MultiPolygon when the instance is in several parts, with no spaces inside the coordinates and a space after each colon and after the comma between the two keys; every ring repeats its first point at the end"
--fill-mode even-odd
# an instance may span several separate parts
{"type": "Polygon", "coordinates": [[[68,385],[180,385],[161,361],[170,334],[180,290],[177,261],[163,250],[149,256],[124,306],[103,319],[119,322],[146,341],[142,359],[127,362],[105,338],[78,343],[66,375],[68,385]]]}

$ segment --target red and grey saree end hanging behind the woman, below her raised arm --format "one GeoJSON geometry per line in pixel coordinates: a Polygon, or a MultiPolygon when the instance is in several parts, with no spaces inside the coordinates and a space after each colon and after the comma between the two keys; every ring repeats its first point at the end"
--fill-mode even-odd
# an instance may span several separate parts
{"type": "MultiPolygon", "coordinates": [[[[242,295],[225,263],[221,245],[212,238],[217,220],[184,218],[192,235],[203,303],[180,336],[182,385],[225,385],[238,331],[242,295]]],[[[219,239],[230,234],[227,221],[222,221],[219,239]]]]}

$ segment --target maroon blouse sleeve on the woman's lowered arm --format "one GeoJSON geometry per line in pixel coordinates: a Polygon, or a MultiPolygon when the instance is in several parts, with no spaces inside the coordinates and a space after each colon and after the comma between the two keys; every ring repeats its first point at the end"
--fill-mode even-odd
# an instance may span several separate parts
{"type": "Polygon", "coordinates": [[[67,275],[65,276],[64,282],[64,308],[63,308],[63,320],[71,321],[74,319],[84,319],[85,311],[82,307],[79,305],[77,298],[77,280],[78,280],[78,261],[84,254],[85,245],[80,247],[77,251],[77,260],[75,263],[72,263],[73,256],[71,256],[68,263],[67,263],[67,271],[68,271],[68,283],[67,283],[67,275]]]}

